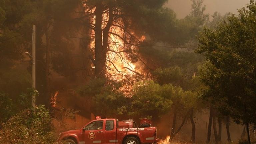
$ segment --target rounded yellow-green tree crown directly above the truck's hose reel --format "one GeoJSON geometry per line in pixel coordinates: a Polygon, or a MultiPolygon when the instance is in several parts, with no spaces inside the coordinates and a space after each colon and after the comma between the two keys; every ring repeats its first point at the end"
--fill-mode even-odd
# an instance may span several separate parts
{"type": "Polygon", "coordinates": [[[153,81],[138,82],[133,87],[129,115],[156,120],[171,107],[173,89],[172,85],[162,87],[153,81]]]}

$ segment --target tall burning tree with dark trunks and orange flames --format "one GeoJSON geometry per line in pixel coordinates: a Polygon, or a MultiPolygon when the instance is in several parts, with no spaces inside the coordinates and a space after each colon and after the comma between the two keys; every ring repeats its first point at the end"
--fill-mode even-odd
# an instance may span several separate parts
{"type": "MultiPolygon", "coordinates": [[[[159,12],[166,0],[86,0],[83,17],[89,27],[90,59],[97,78],[106,72],[123,76],[139,74],[135,63],[143,59],[137,47],[145,40],[145,30],[152,28],[149,15],[159,12]],[[144,27],[144,28],[143,28],[144,27]]],[[[164,12],[164,11],[162,11],[164,12]]]]}

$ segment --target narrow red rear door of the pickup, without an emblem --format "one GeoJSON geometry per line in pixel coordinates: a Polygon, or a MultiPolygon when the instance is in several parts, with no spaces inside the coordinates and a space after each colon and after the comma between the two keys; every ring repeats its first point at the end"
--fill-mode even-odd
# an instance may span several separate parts
{"type": "Polygon", "coordinates": [[[116,125],[114,120],[106,120],[105,123],[105,144],[115,144],[116,142],[116,125]]]}

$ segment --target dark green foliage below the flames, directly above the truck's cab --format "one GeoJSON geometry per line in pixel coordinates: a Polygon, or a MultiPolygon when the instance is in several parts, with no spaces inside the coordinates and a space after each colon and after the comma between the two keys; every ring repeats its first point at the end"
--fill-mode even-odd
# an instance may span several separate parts
{"type": "Polygon", "coordinates": [[[120,92],[121,82],[106,79],[93,79],[77,89],[80,96],[91,101],[91,110],[102,117],[124,115],[128,98],[120,92]]]}

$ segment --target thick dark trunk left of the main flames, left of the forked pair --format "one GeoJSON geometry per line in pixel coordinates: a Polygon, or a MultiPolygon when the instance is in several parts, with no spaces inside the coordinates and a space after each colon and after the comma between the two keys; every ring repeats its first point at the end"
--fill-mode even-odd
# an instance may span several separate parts
{"type": "Polygon", "coordinates": [[[106,59],[104,57],[104,50],[102,48],[102,13],[104,6],[99,2],[95,9],[95,76],[97,78],[104,78],[106,71],[106,59]]]}

